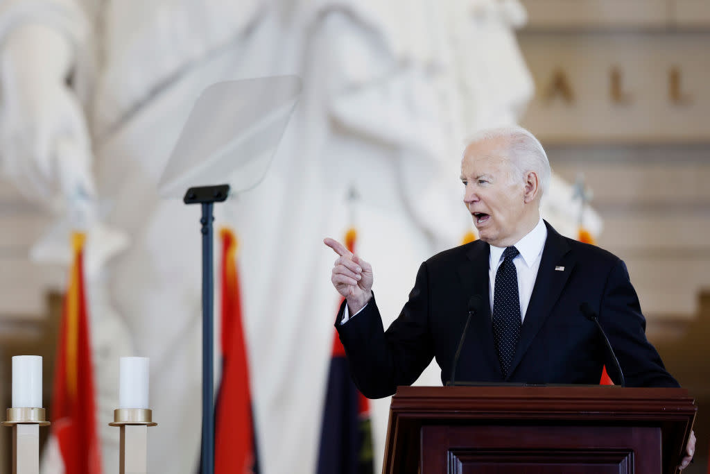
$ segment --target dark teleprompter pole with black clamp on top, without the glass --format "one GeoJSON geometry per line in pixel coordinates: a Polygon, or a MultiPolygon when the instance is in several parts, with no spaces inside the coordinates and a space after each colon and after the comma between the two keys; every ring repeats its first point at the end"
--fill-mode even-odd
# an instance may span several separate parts
{"type": "Polygon", "coordinates": [[[190,188],[182,202],[201,204],[202,217],[202,474],[214,474],[214,203],[229,195],[229,185],[190,188]]]}

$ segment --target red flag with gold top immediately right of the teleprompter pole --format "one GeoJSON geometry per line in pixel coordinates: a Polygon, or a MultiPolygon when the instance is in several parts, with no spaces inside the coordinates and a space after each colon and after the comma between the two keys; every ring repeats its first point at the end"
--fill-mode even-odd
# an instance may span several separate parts
{"type": "Polygon", "coordinates": [[[241,322],[237,242],[222,229],[222,382],[215,411],[215,474],[258,473],[249,363],[241,322]]]}

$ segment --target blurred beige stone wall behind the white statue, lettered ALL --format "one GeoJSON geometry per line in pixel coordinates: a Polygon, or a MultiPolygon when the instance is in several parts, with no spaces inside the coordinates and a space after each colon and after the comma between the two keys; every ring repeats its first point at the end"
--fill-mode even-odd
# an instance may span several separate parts
{"type": "MultiPolygon", "coordinates": [[[[699,403],[696,462],[710,448],[710,2],[523,0],[518,41],[535,80],[521,124],[553,171],[584,177],[599,244],[624,259],[652,343],[699,403]]],[[[0,399],[11,355],[45,356],[50,393],[65,269],[28,261],[51,219],[0,185],[0,399]]],[[[327,275],[323,276],[328,284],[327,275]]],[[[48,400],[48,396],[45,396],[48,400]]],[[[0,430],[0,472],[9,472],[0,430]]]]}

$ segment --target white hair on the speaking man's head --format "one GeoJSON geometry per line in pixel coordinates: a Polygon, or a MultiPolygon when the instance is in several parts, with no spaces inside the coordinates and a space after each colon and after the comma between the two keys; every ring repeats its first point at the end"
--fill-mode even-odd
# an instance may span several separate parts
{"type": "Polygon", "coordinates": [[[520,174],[520,178],[524,180],[525,175],[530,171],[537,173],[537,178],[540,179],[540,198],[542,198],[545,190],[550,186],[552,170],[540,140],[522,126],[501,126],[477,132],[470,137],[469,144],[499,138],[506,140],[510,151],[510,156],[506,158],[513,170],[520,174]]]}

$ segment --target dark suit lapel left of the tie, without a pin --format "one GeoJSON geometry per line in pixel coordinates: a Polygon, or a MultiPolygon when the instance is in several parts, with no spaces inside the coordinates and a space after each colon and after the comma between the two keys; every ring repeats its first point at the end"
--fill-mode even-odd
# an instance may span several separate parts
{"type": "Polygon", "coordinates": [[[502,378],[501,365],[498,362],[496,348],[493,345],[493,323],[491,320],[491,298],[488,288],[488,259],[491,247],[477,241],[470,244],[466,250],[467,261],[459,264],[459,277],[464,291],[470,296],[480,295],[483,307],[480,314],[471,318],[469,333],[467,335],[470,347],[480,347],[486,362],[502,378]]]}

